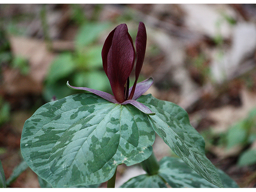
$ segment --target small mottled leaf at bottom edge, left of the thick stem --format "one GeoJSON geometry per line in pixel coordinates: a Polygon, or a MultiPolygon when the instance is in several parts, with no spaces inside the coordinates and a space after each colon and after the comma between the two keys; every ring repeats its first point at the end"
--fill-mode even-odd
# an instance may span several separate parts
{"type": "Polygon", "coordinates": [[[131,178],[121,188],[166,188],[166,184],[158,175],[147,174],[131,178]]]}

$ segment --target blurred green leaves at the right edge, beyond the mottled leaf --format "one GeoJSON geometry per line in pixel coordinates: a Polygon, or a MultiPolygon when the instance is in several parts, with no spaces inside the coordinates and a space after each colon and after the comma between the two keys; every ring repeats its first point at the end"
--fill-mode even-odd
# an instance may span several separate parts
{"type": "Polygon", "coordinates": [[[206,140],[206,146],[217,146],[224,152],[241,148],[243,152],[238,155],[239,166],[256,164],[256,108],[226,132],[213,134],[211,129],[208,129],[202,132],[202,135],[206,140]]]}

